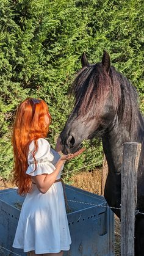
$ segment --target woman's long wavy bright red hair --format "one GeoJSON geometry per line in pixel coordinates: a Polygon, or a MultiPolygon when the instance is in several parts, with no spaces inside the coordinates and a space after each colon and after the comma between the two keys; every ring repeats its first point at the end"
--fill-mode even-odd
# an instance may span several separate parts
{"type": "MultiPolygon", "coordinates": [[[[45,138],[48,134],[49,125],[45,122],[46,115],[48,115],[50,123],[51,115],[48,111],[48,105],[44,100],[34,98],[27,98],[24,100],[20,106],[18,106],[16,112],[12,136],[14,153],[13,180],[15,181],[16,186],[18,186],[20,195],[31,191],[31,176],[26,174],[29,144],[34,141],[34,156],[35,152],[37,152],[38,138],[45,138]]],[[[37,164],[35,161],[35,169],[36,166],[37,164]]]]}

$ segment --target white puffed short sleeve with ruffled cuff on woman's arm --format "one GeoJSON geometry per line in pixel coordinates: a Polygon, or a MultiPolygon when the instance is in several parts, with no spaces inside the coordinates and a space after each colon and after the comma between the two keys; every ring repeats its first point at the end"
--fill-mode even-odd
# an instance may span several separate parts
{"type": "Polygon", "coordinates": [[[35,149],[34,141],[29,145],[29,154],[28,154],[28,164],[29,167],[26,170],[26,174],[31,176],[41,175],[41,174],[51,174],[56,167],[51,163],[54,159],[54,156],[51,153],[51,146],[46,139],[40,138],[37,140],[38,149],[35,153],[35,160],[37,163],[37,169],[35,170],[35,161],[32,153],[35,149]]]}

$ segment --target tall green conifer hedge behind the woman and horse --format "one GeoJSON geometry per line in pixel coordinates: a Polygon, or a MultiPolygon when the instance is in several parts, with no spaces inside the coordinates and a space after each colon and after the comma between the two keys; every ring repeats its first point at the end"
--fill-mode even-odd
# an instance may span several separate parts
{"type": "MultiPolygon", "coordinates": [[[[13,166],[10,133],[16,106],[28,96],[46,100],[54,143],[70,114],[68,89],[84,51],[90,62],[98,62],[107,49],[112,64],[139,90],[144,110],[142,1],[1,0],[0,29],[1,177],[9,179],[13,166]]],[[[98,143],[89,147],[85,142],[86,152],[65,171],[103,159],[98,143]]]]}

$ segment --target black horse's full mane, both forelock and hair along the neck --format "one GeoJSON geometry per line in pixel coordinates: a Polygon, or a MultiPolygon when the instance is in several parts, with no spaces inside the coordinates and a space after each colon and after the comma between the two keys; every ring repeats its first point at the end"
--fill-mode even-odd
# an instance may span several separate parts
{"type": "Polygon", "coordinates": [[[101,63],[82,68],[73,81],[72,91],[79,116],[90,111],[96,116],[111,91],[117,119],[119,122],[129,123],[129,130],[132,129],[132,120],[138,115],[139,109],[137,91],[114,67],[110,67],[109,75],[101,63]]]}

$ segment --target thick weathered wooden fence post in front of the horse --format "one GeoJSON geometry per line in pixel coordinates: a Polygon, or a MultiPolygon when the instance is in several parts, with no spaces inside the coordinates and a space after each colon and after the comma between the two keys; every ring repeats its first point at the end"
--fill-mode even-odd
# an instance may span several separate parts
{"type": "Polygon", "coordinates": [[[121,256],[134,256],[137,169],[140,151],[140,143],[124,143],[121,169],[121,256]]]}

